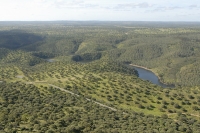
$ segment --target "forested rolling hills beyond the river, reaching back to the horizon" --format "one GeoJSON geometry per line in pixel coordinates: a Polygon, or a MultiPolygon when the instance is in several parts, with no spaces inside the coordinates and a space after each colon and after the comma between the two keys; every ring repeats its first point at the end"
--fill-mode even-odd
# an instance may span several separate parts
{"type": "Polygon", "coordinates": [[[25,23],[14,28],[11,24],[1,30],[0,48],[23,50],[43,59],[66,56],[91,61],[107,56],[152,69],[168,84],[200,84],[198,23],[114,24],[25,23]]]}

